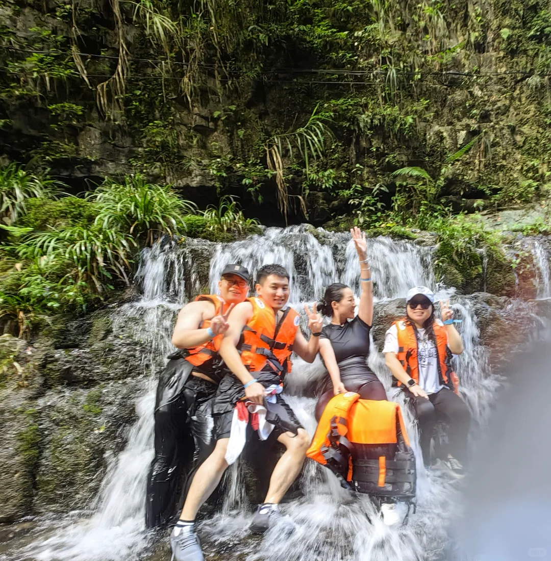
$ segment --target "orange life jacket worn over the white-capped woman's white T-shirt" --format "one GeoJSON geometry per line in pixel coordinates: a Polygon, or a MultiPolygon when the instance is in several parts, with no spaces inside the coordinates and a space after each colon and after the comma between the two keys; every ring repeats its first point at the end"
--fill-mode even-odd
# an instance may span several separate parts
{"type": "MultiPolygon", "coordinates": [[[[417,362],[417,337],[411,321],[406,319],[394,321],[398,332],[398,354],[396,357],[405,367],[407,374],[419,384],[419,362],[417,362]]],[[[452,352],[448,348],[448,334],[446,329],[436,321],[433,323],[438,355],[438,376],[440,384],[446,385],[455,393],[458,392],[459,379],[452,368],[452,352]]],[[[398,385],[401,382],[398,381],[398,385]]]]}

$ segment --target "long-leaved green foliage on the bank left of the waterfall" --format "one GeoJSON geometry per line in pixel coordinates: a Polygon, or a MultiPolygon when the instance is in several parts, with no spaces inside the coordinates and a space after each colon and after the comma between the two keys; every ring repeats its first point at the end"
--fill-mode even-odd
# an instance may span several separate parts
{"type": "Polygon", "coordinates": [[[139,175],[106,180],[81,199],[53,191],[48,177],[8,172],[0,169],[0,180],[7,178],[0,191],[7,185],[22,195],[15,224],[0,224],[0,319],[16,321],[20,335],[54,310],[84,309],[128,284],[140,246],[164,234],[184,234],[190,224],[195,236],[222,231],[233,239],[256,228],[234,201],[196,215],[170,186],[139,175]]]}

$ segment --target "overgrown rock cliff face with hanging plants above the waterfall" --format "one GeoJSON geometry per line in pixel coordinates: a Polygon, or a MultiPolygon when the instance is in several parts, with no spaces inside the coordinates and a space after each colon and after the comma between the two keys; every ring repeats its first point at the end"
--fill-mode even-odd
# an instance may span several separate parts
{"type": "Polygon", "coordinates": [[[6,2],[0,151],[75,191],[145,171],[203,207],[240,195],[268,225],[526,202],[548,177],[550,17],[534,0],[6,2]]]}

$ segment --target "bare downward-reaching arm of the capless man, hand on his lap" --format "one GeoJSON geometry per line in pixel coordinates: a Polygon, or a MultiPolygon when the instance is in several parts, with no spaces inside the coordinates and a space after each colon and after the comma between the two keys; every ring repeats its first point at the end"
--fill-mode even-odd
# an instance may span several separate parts
{"type": "MultiPolygon", "coordinates": [[[[229,328],[224,334],[220,350],[218,351],[218,354],[223,358],[226,366],[237,376],[243,385],[254,380],[254,375],[252,375],[243,364],[241,355],[237,350],[237,344],[239,343],[241,332],[247,324],[247,321],[251,319],[251,316],[252,305],[250,302],[237,304],[231,314],[229,314],[229,328]]],[[[264,386],[258,382],[254,382],[247,385],[243,394],[252,402],[261,404],[264,400],[264,386]]]]}

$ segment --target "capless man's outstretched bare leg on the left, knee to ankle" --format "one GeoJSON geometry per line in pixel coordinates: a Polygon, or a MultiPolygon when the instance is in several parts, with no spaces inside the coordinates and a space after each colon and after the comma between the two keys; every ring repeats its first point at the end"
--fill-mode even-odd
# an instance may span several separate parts
{"type": "Polygon", "coordinates": [[[219,484],[228,463],[224,456],[228,448],[229,438],[222,438],[216,443],[214,451],[201,464],[187,491],[186,502],[183,505],[181,520],[195,520],[197,512],[206,499],[219,484]]]}

